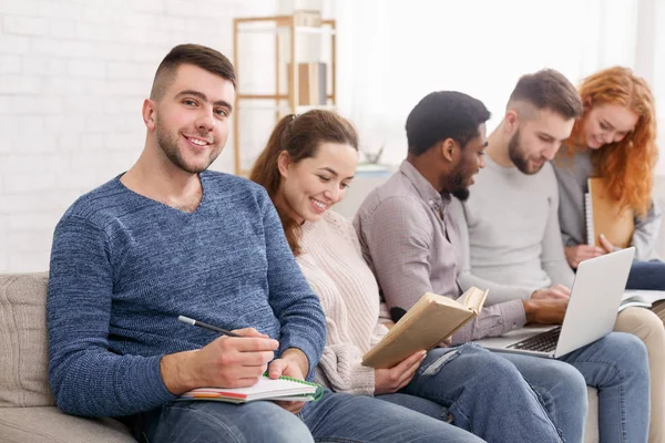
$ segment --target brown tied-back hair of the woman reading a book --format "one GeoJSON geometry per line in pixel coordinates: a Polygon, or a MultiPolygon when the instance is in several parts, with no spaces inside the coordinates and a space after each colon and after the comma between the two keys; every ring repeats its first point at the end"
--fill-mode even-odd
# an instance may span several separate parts
{"type": "Polygon", "coordinates": [[[249,179],[265,187],[275,203],[288,246],[295,256],[301,253],[300,225],[282,207],[282,200],[276,198],[282,185],[277,159],[283,151],[287,152],[293,163],[314,157],[321,143],[348,144],[358,150],[358,135],[349,121],[331,111],[313,110],[301,115],[287,115],[273,130],[268,144],[249,174],[249,179]]]}

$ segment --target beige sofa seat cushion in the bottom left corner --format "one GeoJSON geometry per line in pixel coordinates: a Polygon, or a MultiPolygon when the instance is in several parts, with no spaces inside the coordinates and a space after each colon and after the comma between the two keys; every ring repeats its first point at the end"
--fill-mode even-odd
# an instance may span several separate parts
{"type": "Polygon", "coordinates": [[[136,443],[116,420],[65,415],[54,406],[0,408],[0,442],[136,443]]]}

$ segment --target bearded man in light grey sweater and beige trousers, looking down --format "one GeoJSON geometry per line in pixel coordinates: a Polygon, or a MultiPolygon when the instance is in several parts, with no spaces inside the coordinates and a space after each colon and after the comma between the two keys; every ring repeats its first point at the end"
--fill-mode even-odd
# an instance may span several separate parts
{"type": "MultiPolygon", "coordinates": [[[[550,161],[573,130],[574,117],[561,111],[581,102],[565,89],[548,86],[551,71],[523,76],[505,115],[489,136],[487,167],[470,197],[451,204],[460,229],[463,288],[489,288],[489,303],[522,300],[529,316],[538,299],[565,299],[574,274],[564,255],[559,226],[559,188],[550,161]]],[[[579,106],[576,106],[580,110],[579,106]]],[[[552,318],[561,323],[564,311],[552,318]]],[[[614,330],[640,337],[648,351],[651,373],[649,441],[665,439],[665,329],[646,309],[623,310],[614,330]]]]}

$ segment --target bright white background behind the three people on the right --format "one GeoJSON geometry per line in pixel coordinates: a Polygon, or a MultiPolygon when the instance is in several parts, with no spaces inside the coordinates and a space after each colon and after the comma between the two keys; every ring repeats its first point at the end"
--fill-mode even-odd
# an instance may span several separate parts
{"type": "MultiPolygon", "coordinates": [[[[458,90],[503,116],[520,75],[554,68],[574,84],[631,66],[651,83],[665,143],[665,0],[335,0],[339,109],[361,148],[406,156],[405,122],[426,94],[458,90]]],[[[665,151],[664,151],[665,152],[665,151]]],[[[665,157],[663,155],[662,157],[665,157]]],[[[665,174],[665,158],[658,167],[665,174]]]]}

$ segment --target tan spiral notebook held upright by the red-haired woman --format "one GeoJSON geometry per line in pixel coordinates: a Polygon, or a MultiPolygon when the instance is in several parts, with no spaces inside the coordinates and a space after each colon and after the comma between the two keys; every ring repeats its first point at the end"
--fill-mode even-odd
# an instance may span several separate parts
{"type": "Polygon", "coordinates": [[[589,193],[584,195],[584,215],[586,218],[586,243],[601,246],[600,236],[620,248],[631,246],[635,230],[633,210],[622,208],[613,199],[602,178],[589,179],[589,193]]]}

